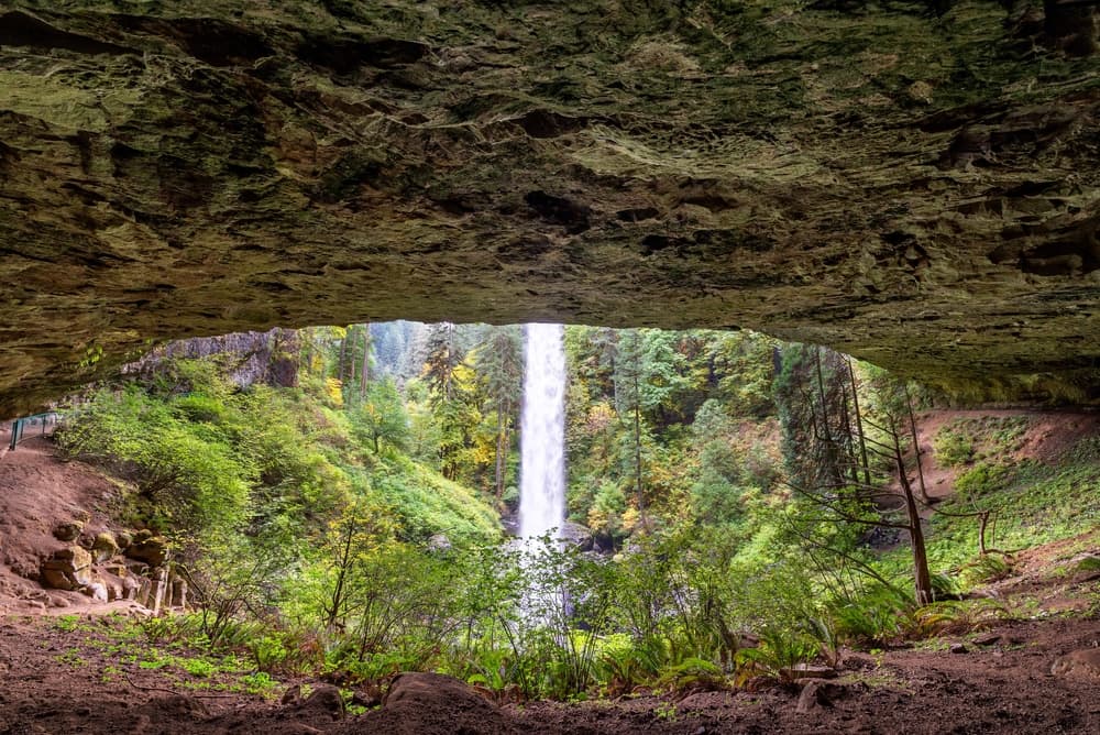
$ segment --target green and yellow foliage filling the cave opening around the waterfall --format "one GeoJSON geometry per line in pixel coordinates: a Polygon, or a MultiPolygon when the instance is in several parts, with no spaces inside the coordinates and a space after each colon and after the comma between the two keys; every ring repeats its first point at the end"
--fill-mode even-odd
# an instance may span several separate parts
{"type": "MultiPolygon", "coordinates": [[[[566,329],[570,513],[618,553],[520,553],[501,546],[490,505],[517,494],[518,330],[376,327],[312,330],[301,388],[239,390],[210,361],[176,361],[102,391],[59,435],[128,479],[132,514],[185,551],[177,571],[196,611],[141,625],[153,647],[208,655],[132,663],[189,672],[195,685],[246,667],[257,673],[239,685],[266,695],[272,676],[384,683],[430,669],[502,700],[581,699],[790,679],[842,645],[965,632],[1001,614],[919,608],[895,583],[908,549],[866,546],[882,515],[853,489],[876,490],[882,468],[854,481],[855,435],[820,439],[850,429],[856,397],[876,420],[908,412],[910,386],[880,371],[857,365],[856,395],[843,356],[790,348],[773,399],[770,338],[566,329]],[[367,334],[385,344],[375,360],[367,334]],[[372,380],[352,381],[364,359],[372,380]],[[789,476],[824,479],[843,516],[803,502],[789,476]]],[[[1019,426],[937,437],[942,461],[974,462],[943,507],[980,502],[999,542],[1090,528],[1100,443],[1082,442],[1063,468],[1010,464],[1001,457],[1019,426]]],[[[994,555],[965,563],[975,526],[931,522],[933,567],[958,567],[964,584],[1008,571],[994,555]]]]}

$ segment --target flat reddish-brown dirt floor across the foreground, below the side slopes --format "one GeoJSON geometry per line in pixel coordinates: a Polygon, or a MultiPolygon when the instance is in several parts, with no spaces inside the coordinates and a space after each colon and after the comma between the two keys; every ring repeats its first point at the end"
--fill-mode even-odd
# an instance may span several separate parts
{"type": "Polygon", "coordinates": [[[838,679],[755,692],[498,707],[457,680],[407,674],[395,690],[411,691],[359,716],[342,714],[339,696],[320,683],[305,701],[191,691],[186,677],[122,661],[96,643],[100,635],[62,630],[46,617],[0,621],[0,733],[1100,732],[1096,618],[1007,624],[985,634],[985,645],[960,639],[965,652],[950,652],[944,640],[925,650],[849,654],[838,679]],[[1075,650],[1093,654],[1096,668],[1076,658],[1057,663],[1075,650]],[[421,685],[409,685],[418,678],[421,685]]]}

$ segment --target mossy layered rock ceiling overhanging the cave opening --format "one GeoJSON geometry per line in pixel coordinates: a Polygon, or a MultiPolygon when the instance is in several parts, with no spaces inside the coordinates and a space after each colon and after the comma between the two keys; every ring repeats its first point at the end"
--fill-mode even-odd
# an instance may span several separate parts
{"type": "Polygon", "coordinates": [[[1089,0],[0,3],[0,414],[275,325],[751,327],[1097,399],[1089,0]]]}

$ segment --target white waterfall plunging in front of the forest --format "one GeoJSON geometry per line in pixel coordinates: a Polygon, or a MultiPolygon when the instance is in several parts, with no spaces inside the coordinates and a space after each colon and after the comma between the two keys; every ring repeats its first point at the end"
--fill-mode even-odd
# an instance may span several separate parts
{"type": "Polygon", "coordinates": [[[519,536],[554,531],[565,520],[565,344],[561,325],[527,325],[520,419],[519,536]]]}

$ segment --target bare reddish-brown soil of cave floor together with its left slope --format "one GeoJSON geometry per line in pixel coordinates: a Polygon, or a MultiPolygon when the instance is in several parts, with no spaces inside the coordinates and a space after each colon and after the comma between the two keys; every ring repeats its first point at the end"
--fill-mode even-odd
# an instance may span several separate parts
{"type": "Polygon", "coordinates": [[[1070,549],[1096,552],[1100,530],[1022,552],[1015,575],[991,590],[1034,601],[1036,619],[914,648],[849,651],[832,681],[499,706],[461,682],[411,674],[397,680],[384,706],[350,716],[319,682],[309,682],[311,698],[289,689],[278,701],[285,688],[264,699],[215,691],[218,676],[142,668],[112,646],[122,623],[102,613],[118,604],[92,605],[26,579],[61,546],[51,535],[56,523],[85,514],[89,528],[108,526],[99,506],[112,491],[90,469],[58,462],[45,440],[0,457],[0,735],[1100,732],[1100,665],[1090,663],[1097,657],[1055,666],[1071,651],[1100,648],[1100,581],[1054,572],[1070,549]],[[58,613],[73,617],[58,621],[58,613]],[[950,652],[952,644],[963,650],[950,652]]]}

